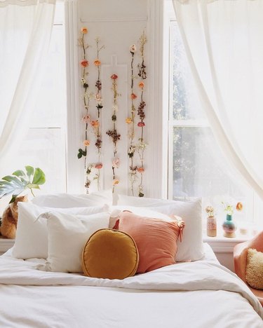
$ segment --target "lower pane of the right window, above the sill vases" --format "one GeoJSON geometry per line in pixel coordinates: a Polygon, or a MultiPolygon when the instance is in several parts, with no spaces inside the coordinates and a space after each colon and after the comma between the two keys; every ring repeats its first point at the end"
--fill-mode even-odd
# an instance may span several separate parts
{"type": "Polygon", "coordinates": [[[173,193],[177,197],[241,196],[215,149],[210,128],[173,128],[173,193]]]}

